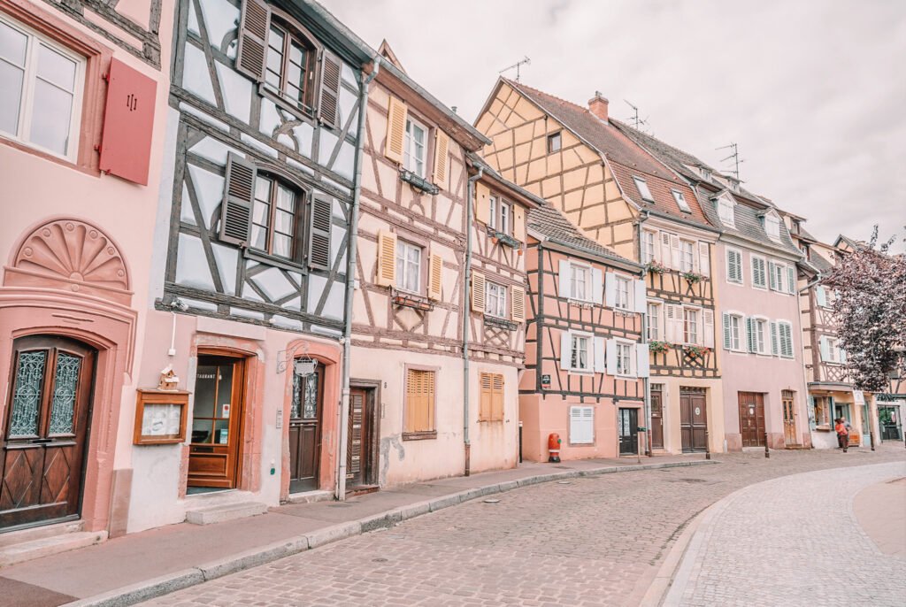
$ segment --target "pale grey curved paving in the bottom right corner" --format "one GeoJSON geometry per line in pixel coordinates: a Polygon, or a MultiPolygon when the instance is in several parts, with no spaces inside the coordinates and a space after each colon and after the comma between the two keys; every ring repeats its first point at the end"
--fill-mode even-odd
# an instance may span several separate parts
{"type": "MultiPolygon", "coordinates": [[[[906,558],[883,554],[854,514],[853,499],[904,476],[900,461],[740,489],[703,516],[662,604],[902,605],[906,558]]],[[[898,502],[882,509],[901,521],[906,503],[898,502]]]]}

